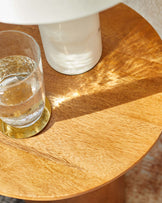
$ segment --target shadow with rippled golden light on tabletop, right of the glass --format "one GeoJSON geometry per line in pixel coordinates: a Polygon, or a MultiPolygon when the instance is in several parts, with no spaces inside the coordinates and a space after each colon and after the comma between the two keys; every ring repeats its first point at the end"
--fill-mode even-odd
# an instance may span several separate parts
{"type": "Polygon", "coordinates": [[[51,82],[45,74],[54,115],[48,127],[162,91],[160,38],[137,13],[121,7],[101,13],[103,54],[96,67],[76,76],[52,70],[51,82]]]}

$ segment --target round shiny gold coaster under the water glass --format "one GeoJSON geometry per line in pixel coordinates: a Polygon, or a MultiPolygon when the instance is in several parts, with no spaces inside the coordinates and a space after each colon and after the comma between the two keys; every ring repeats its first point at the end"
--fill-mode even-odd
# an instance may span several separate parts
{"type": "Polygon", "coordinates": [[[43,130],[44,127],[47,125],[50,116],[51,116],[51,105],[48,99],[46,98],[44,111],[40,119],[33,125],[25,128],[16,128],[4,123],[0,119],[0,131],[2,131],[3,134],[12,138],[28,138],[38,134],[41,130],[43,130]]]}

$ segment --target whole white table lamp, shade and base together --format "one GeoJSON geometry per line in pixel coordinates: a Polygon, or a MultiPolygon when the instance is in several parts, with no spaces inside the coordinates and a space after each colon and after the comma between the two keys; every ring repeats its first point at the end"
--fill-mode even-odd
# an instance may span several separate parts
{"type": "MultiPolygon", "coordinates": [[[[139,8],[145,4],[145,0],[137,1],[139,8]]],[[[151,1],[147,0],[147,3],[151,1]]],[[[100,59],[102,43],[98,13],[119,2],[121,1],[0,0],[0,21],[38,24],[48,63],[61,73],[74,75],[90,70],[100,59]]],[[[134,7],[134,1],[124,2],[134,7]]],[[[140,12],[140,9],[135,9],[140,12]]],[[[143,16],[150,19],[148,15],[145,12],[143,16]]],[[[157,28],[155,23],[154,25],[157,28]]]]}

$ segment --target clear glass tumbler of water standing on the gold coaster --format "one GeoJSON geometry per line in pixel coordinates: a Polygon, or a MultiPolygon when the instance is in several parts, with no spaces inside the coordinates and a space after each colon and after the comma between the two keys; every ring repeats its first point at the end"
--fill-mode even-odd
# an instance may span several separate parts
{"type": "Polygon", "coordinates": [[[16,128],[29,127],[45,106],[40,48],[30,35],[0,32],[0,119],[16,128]]]}

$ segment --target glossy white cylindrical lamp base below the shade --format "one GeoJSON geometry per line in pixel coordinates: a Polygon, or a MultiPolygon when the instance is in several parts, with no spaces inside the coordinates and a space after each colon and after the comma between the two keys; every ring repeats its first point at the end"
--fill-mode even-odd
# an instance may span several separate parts
{"type": "Polygon", "coordinates": [[[39,25],[48,63],[56,71],[75,75],[93,68],[102,53],[99,15],[39,25]]]}

